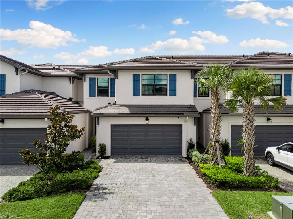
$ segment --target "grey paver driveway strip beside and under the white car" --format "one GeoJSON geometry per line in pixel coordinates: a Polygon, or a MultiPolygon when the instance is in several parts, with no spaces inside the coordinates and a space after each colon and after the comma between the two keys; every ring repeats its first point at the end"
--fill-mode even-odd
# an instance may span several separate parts
{"type": "Polygon", "coordinates": [[[260,158],[256,159],[255,165],[260,166],[262,170],[268,171],[273,177],[279,178],[282,189],[287,192],[293,192],[293,171],[279,165],[270,166],[265,159],[260,158]]]}

